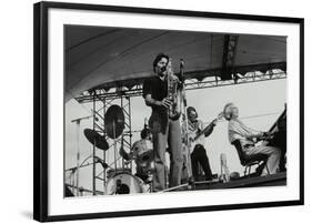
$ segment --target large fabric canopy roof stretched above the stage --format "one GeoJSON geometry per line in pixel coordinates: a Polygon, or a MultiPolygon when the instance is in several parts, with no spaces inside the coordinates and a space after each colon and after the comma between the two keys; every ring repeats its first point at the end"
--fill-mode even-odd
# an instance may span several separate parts
{"type": "MultiPolygon", "coordinates": [[[[180,59],[187,78],[220,75],[224,33],[103,27],[66,27],[66,100],[95,86],[134,85],[152,75],[159,52],[180,59]]],[[[235,71],[281,69],[286,61],[286,38],[240,34],[235,71]],[[275,68],[272,68],[273,67],[275,68]]]]}

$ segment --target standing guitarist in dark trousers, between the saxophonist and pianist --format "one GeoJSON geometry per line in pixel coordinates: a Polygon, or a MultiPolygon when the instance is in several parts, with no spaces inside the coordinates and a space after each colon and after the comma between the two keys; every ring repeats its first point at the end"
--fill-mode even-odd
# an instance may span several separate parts
{"type": "MultiPolygon", "coordinates": [[[[195,138],[201,131],[203,131],[203,122],[198,119],[198,112],[193,106],[189,106],[187,109],[188,114],[188,129],[189,129],[189,135],[191,136],[190,141],[193,141],[193,138],[195,138]]],[[[209,164],[209,159],[207,156],[207,152],[204,149],[204,138],[209,136],[213,128],[215,125],[215,122],[212,123],[211,128],[208,129],[201,138],[199,138],[193,144],[191,144],[190,153],[191,153],[191,164],[192,164],[192,174],[194,177],[194,181],[199,181],[199,165],[202,167],[205,180],[211,181],[212,180],[212,173],[209,164]]],[[[184,130],[184,129],[183,129],[184,130]]]]}

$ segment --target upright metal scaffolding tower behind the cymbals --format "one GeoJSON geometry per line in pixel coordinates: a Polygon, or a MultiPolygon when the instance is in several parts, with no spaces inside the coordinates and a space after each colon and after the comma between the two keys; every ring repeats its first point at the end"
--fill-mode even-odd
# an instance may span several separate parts
{"type": "Polygon", "coordinates": [[[119,154],[120,147],[130,152],[132,144],[132,130],[131,130],[131,99],[128,95],[119,94],[115,98],[102,98],[104,90],[93,91],[92,95],[92,111],[93,111],[93,130],[105,136],[109,143],[109,149],[103,151],[93,145],[93,163],[92,163],[92,192],[93,194],[104,194],[107,185],[107,176],[109,170],[132,170],[132,163],[127,163],[120,155],[109,160],[109,154],[119,154]],[[120,136],[115,140],[110,139],[104,130],[104,116],[111,105],[119,105],[124,114],[124,129],[120,136]],[[108,167],[97,165],[95,159],[100,159],[108,167]],[[114,167],[112,167],[112,165],[114,167]]]}

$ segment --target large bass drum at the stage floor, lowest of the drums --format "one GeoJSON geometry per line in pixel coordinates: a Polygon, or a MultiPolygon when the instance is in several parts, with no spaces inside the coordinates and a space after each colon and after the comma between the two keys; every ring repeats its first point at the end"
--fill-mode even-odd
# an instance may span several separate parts
{"type": "Polygon", "coordinates": [[[147,193],[148,186],[144,182],[128,173],[121,172],[113,175],[107,183],[105,194],[133,194],[133,193],[147,193]]]}

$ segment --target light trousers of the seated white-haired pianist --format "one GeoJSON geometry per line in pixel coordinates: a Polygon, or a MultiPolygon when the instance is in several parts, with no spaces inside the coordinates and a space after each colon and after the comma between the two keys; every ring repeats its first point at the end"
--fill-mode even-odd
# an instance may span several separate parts
{"type": "MultiPolygon", "coordinates": [[[[244,150],[246,155],[254,155],[254,154],[265,154],[268,155],[266,166],[270,174],[275,174],[279,165],[280,165],[280,157],[281,157],[281,150],[279,147],[266,146],[266,145],[258,145],[253,147],[249,147],[244,150]]],[[[268,175],[266,169],[263,169],[261,175],[268,175]]]]}

